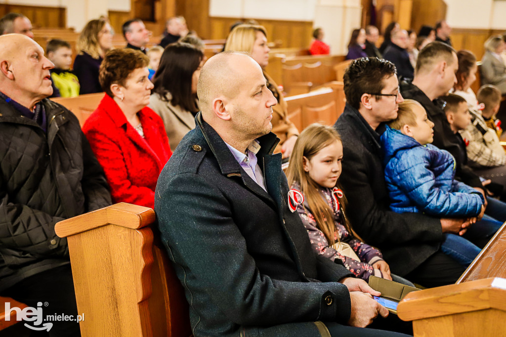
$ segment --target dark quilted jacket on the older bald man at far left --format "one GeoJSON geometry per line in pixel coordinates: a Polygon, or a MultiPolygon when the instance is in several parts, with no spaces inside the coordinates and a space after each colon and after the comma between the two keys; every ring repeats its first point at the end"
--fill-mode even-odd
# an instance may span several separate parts
{"type": "Polygon", "coordinates": [[[68,263],[55,224],[111,204],[77,118],[48,99],[43,104],[47,133],[0,99],[0,290],[68,263]]]}

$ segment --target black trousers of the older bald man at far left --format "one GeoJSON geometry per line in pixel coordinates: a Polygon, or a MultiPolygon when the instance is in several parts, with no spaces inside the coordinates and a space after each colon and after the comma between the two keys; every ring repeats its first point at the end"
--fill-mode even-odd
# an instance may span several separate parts
{"type": "MultiPolygon", "coordinates": [[[[37,303],[41,302],[44,319],[47,315],[72,315],[74,319],[77,318],[77,304],[70,264],[30,276],[2,291],[0,296],[13,298],[33,308],[37,308],[37,303]]],[[[13,315],[16,319],[15,312],[13,315]]],[[[15,328],[21,329],[23,332],[20,331],[17,335],[25,335],[25,333],[29,336],[49,337],[78,337],[81,335],[79,324],[76,321],[51,320],[53,326],[50,331],[32,330],[25,327],[23,323],[35,326],[34,322],[18,323],[15,328]]],[[[40,324],[38,327],[42,325],[40,324]]]]}

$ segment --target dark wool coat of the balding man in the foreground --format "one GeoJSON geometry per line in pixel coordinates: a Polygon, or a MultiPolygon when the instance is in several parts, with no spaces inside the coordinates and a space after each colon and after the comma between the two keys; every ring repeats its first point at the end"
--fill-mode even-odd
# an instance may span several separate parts
{"type": "Polygon", "coordinates": [[[313,252],[299,215],[288,209],[275,135],[259,138],[266,192],[200,113],[195,119],[155,192],[194,335],[310,337],[320,335],[314,321],[346,323],[350,295],[336,281],[352,274],[313,252]]]}

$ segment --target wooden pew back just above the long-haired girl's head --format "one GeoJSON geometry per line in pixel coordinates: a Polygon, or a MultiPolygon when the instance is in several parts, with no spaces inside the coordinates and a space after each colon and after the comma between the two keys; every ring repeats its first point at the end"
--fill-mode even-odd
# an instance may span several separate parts
{"type": "Polygon", "coordinates": [[[285,101],[288,119],[301,131],[314,122],[333,125],[343,112],[338,110],[338,95],[330,88],[285,97],[285,101]]]}

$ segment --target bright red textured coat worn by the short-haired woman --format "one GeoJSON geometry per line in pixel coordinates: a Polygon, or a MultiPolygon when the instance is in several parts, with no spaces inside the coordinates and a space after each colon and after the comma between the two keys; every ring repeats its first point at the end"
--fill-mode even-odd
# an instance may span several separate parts
{"type": "Polygon", "coordinates": [[[156,181],[172,151],[160,116],[148,107],[137,115],[145,138],[105,95],[82,131],[104,168],[113,201],[153,208],[156,181]]]}

